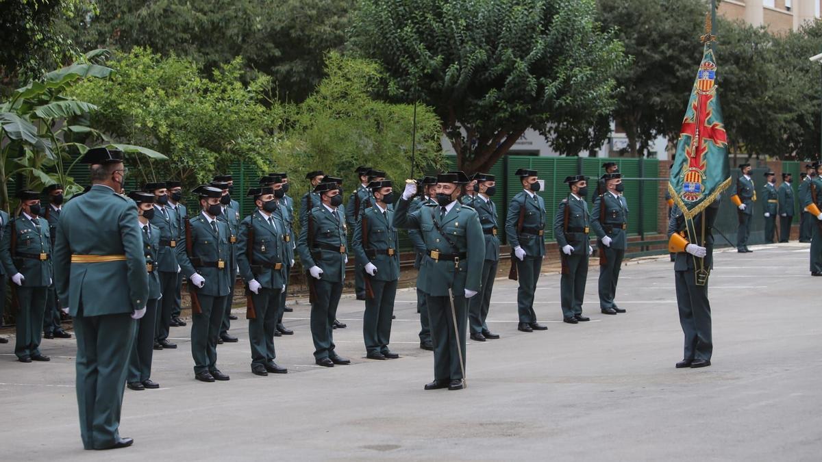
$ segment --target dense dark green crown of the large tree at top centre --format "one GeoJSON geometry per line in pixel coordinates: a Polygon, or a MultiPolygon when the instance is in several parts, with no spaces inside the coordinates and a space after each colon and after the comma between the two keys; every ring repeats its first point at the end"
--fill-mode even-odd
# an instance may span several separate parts
{"type": "Polygon", "coordinates": [[[595,12],[593,0],[360,0],[351,43],[385,67],[390,97],[436,111],[461,169],[487,171],[529,127],[550,141],[610,112],[625,59],[595,12]]]}

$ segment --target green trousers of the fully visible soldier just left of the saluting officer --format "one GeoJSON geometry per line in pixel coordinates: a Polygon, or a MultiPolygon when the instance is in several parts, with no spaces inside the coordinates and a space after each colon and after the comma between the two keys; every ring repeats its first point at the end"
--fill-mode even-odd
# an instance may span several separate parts
{"type": "Polygon", "coordinates": [[[374,298],[366,298],[363,313],[363,340],[367,354],[389,351],[391,316],[394,315],[394,298],[397,281],[372,280],[374,298]]]}

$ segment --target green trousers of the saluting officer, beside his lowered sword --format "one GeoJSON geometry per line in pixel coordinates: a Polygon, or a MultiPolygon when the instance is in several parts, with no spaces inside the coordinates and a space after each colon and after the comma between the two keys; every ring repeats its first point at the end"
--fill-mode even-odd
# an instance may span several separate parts
{"type": "MultiPolygon", "coordinates": [[[[476,297],[476,295],[474,296],[476,297]]],[[[431,316],[431,340],[434,344],[434,380],[461,380],[459,349],[465,364],[465,331],[468,325],[468,300],[463,295],[454,296],[454,310],[457,319],[459,339],[454,333],[454,318],[448,296],[427,295],[428,315],[431,316]]],[[[467,366],[466,366],[467,367],[467,366]]]]}

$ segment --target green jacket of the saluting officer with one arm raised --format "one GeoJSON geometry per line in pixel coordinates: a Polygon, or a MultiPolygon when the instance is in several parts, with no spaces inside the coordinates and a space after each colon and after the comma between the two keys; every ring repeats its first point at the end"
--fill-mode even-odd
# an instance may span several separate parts
{"type": "Polygon", "coordinates": [[[428,204],[409,213],[409,201],[401,199],[395,211],[394,224],[402,229],[419,229],[427,252],[436,250],[443,255],[464,253],[466,256],[459,261],[459,266],[455,266],[454,261],[434,261],[431,256],[424,256],[425,293],[445,297],[449,288],[453,289],[454,295],[463,295],[464,289],[479,292],[485,238],[476,210],[457,203],[440,219],[436,204],[428,204]],[[444,234],[448,235],[448,239],[444,234]],[[449,239],[455,247],[448,243],[449,239]]]}

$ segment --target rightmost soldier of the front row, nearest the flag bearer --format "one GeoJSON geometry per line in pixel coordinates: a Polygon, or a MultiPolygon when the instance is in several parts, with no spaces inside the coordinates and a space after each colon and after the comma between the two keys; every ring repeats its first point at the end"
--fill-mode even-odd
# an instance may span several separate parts
{"type": "Polygon", "coordinates": [[[628,201],[622,196],[625,185],[622,184],[621,173],[606,173],[603,176],[606,192],[593,200],[591,222],[599,247],[599,309],[603,314],[617,314],[625,312],[617,307],[614,298],[625,256],[628,201]]]}

